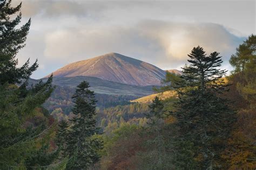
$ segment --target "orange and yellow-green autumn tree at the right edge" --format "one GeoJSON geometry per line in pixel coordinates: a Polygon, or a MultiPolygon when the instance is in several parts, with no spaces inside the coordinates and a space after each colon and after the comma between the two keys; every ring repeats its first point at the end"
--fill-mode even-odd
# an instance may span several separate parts
{"type": "Polygon", "coordinates": [[[223,157],[232,169],[256,168],[256,36],[249,36],[231,56],[234,70],[228,77],[232,86],[227,95],[238,110],[238,121],[233,127],[223,157]]]}

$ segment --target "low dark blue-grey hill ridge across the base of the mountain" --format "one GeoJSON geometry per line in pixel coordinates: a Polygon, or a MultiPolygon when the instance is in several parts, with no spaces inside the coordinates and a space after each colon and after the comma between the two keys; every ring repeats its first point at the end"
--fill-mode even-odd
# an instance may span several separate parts
{"type": "MultiPolygon", "coordinates": [[[[44,78],[42,80],[46,81],[47,79],[48,78],[44,78]]],[[[29,83],[35,84],[38,81],[39,80],[30,79],[29,83]]],[[[146,96],[153,93],[153,86],[133,86],[89,76],[53,77],[52,84],[60,87],[75,88],[82,81],[89,82],[91,90],[95,91],[97,94],[146,96]]]]}

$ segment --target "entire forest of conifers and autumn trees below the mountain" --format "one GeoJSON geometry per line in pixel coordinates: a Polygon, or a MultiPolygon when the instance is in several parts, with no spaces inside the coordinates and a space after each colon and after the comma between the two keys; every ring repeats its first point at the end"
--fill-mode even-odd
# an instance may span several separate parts
{"type": "Polygon", "coordinates": [[[52,86],[52,75],[28,86],[39,63],[18,67],[16,56],[31,20],[17,29],[21,4],[0,2],[0,169],[256,169],[254,34],[230,56],[231,74],[196,46],[183,74],[154,89],[176,95],[130,103],[86,81],[52,86]]]}

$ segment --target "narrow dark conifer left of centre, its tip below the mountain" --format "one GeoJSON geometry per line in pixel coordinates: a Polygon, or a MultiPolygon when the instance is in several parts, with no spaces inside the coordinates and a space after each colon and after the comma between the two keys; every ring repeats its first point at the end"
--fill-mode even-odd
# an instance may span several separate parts
{"type": "Polygon", "coordinates": [[[69,132],[67,152],[70,157],[68,169],[86,169],[99,160],[98,151],[102,149],[102,141],[93,138],[98,132],[96,128],[96,100],[89,83],[81,82],[76,89],[73,100],[72,126],[69,132]]]}

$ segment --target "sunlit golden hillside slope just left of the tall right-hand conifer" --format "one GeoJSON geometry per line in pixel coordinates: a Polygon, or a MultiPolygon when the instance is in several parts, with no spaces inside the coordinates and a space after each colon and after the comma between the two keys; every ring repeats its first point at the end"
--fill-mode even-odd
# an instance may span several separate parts
{"type": "Polygon", "coordinates": [[[176,94],[177,94],[176,91],[164,91],[163,93],[157,93],[157,94],[140,97],[135,100],[131,100],[130,102],[131,103],[151,103],[156,96],[158,96],[161,100],[164,100],[165,98],[175,96],[176,94]]]}

